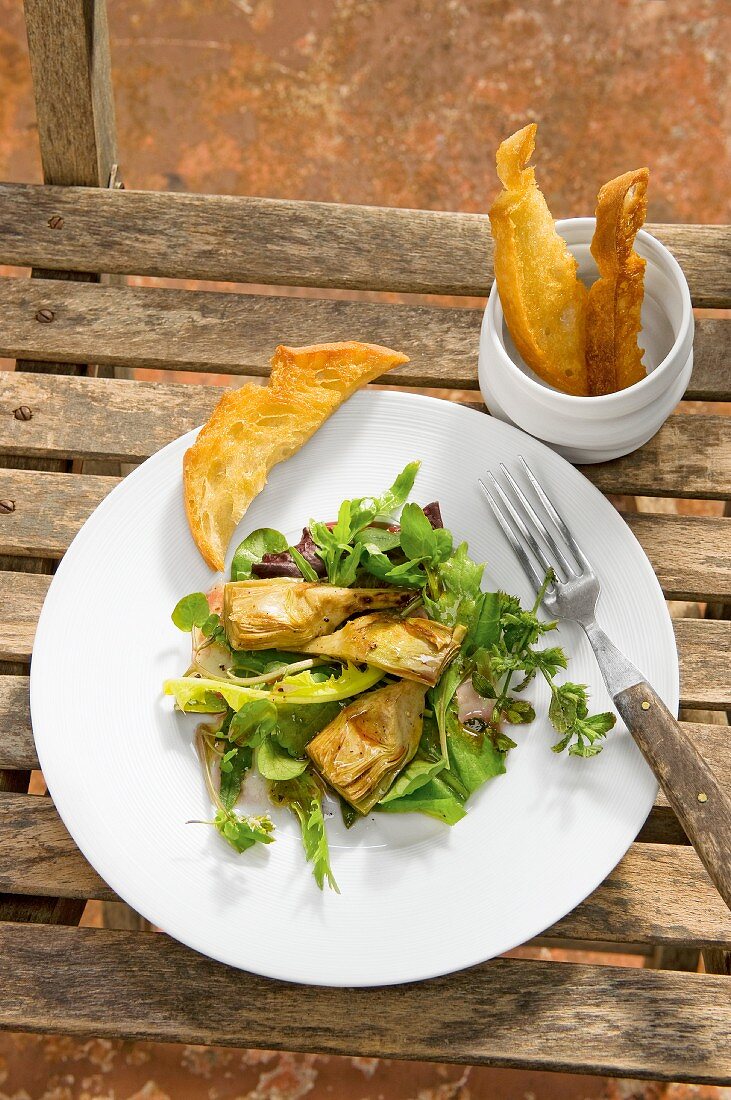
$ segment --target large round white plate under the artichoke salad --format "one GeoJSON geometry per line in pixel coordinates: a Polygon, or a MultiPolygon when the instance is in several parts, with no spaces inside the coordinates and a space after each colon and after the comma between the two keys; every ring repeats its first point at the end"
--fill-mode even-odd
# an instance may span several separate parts
{"type": "MultiPolygon", "coordinates": [[[[453,828],[418,814],[372,814],[346,832],[329,818],[341,894],[320,892],[295,820],[274,813],[275,844],[236,855],[204,825],[211,810],[192,746],[196,719],[160,695],[187,664],[170,622],[180,596],[214,578],[190,537],[181,460],[195,432],[128,476],[64,558],[33,654],[31,703],[41,766],[58,812],[101,877],[133,909],[196,950],[289,981],[378,986],[446,974],[499,955],[568,913],[634,839],[656,784],[618,724],[595,759],[555,756],[545,685],[519,727],[507,774],[453,828]]],[[[564,459],[516,428],[412,394],[352,398],[277,466],[232,540],[270,526],[292,539],[343,498],[386,488],[412,459],[413,498],[439,499],[445,525],[487,562],[485,580],[532,602],[477,487],[524,454],[601,579],[598,618],[677,713],[675,641],[639,543],[564,459]]],[[[555,636],[549,636],[553,639],[555,636]]],[[[610,703],[588,644],[558,638],[568,675],[610,703]]],[[[512,732],[512,730],[511,730],[512,732]]],[[[250,781],[244,805],[264,810],[250,781]]]]}

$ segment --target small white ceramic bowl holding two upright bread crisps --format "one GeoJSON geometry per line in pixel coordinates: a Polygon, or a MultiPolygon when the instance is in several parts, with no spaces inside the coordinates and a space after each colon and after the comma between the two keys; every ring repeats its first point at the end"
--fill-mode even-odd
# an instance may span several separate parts
{"type": "MultiPolygon", "coordinates": [[[[594,218],[557,221],[587,286],[597,278],[589,251],[594,218]]],[[[602,397],[562,394],[518,353],[497,284],[485,308],[479,340],[479,387],[494,416],[543,440],[572,462],[606,462],[655,435],[683,397],[693,371],[694,319],[685,275],[667,249],[640,230],[635,249],[647,261],[640,344],[647,376],[602,397]]]]}

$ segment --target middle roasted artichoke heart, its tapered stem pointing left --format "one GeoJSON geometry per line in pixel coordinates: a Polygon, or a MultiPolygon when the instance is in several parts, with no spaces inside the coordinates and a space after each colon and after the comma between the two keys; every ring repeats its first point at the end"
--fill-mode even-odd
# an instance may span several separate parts
{"type": "Polygon", "coordinates": [[[322,653],[359,663],[365,661],[405,680],[432,688],[457,652],[464,627],[451,630],[442,623],[411,616],[362,615],[328,638],[300,646],[304,653],[322,653]]]}

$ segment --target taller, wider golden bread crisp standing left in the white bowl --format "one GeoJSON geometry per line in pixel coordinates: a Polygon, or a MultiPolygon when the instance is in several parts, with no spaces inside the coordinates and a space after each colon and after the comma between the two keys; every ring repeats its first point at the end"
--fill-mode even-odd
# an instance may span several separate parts
{"type": "Polygon", "coordinates": [[[523,127],[497,153],[503,190],[490,209],[495,278],[516,348],[535,373],[566,394],[585,395],[586,287],[527,167],[538,127],[523,127]]]}

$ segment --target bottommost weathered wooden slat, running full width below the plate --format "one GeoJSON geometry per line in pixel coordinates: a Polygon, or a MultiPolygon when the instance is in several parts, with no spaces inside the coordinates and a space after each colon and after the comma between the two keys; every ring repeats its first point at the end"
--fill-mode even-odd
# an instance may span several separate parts
{"type": "Polygon", "coordinates": [[[0,1026],[731,1080],[727,979],[625,967],[496,959],[354,992],[259,979],[154,933],[4,924],[0,1026]]]}

